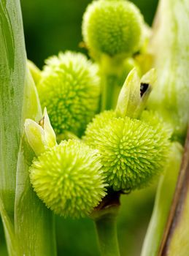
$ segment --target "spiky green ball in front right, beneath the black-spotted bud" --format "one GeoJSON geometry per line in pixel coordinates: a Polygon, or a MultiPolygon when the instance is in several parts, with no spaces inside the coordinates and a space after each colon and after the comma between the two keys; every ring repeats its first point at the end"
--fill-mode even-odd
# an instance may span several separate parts
{"type": "Polygon", "coordinates": [[[94,118],[86,130],[85,143],[99,149],[107,183],[113,189],[144,187],[163,169],[170,133],[161,124],[153,127],[137,119],[111,116],[107,111],[94,118]],[[109,119],[104,118],[108,113],[109,119]]]}

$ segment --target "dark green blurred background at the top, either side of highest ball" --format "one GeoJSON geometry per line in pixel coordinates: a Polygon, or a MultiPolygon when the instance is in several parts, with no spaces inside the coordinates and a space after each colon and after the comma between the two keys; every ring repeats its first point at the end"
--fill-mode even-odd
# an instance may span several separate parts
{"type": "MultiPolygon", "coordinates": [[[[44,59],[60,50],[85,50],[82,42],[82,14],[90,0],[21,0],[28,59],[40,68],[44,59]]],[[[134,0],[151,24],[158,0],[134,0]]]]}

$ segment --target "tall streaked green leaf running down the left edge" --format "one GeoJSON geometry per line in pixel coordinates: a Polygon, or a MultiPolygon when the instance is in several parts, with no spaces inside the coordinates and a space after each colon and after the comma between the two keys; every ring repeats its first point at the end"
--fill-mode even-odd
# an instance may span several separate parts
{"type": "Polygon", "coordinates": [[[26,76],[19,1],[0,1],[0,45],[0,196],[13,222],[26,76]]]}

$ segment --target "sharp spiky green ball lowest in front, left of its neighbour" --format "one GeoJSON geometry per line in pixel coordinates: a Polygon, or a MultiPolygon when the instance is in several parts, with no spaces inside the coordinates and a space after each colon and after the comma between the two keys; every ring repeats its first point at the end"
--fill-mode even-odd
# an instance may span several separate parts
{"type": "Polygon", "coordinates": [[[39,198],[63,217],[89,214],[106,195],[97,152],[79,140],[63,141],[34,159],[30,179],[39,198]]]}

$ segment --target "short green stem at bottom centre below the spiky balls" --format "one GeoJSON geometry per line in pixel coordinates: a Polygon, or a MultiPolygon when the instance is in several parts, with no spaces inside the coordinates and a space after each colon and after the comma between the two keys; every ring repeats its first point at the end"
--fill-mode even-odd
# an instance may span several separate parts
{"type": "Polygon", "coordinates": [[[101,256],[119,256],[115,214],[106,214],[95,221],[101,256]]]}

